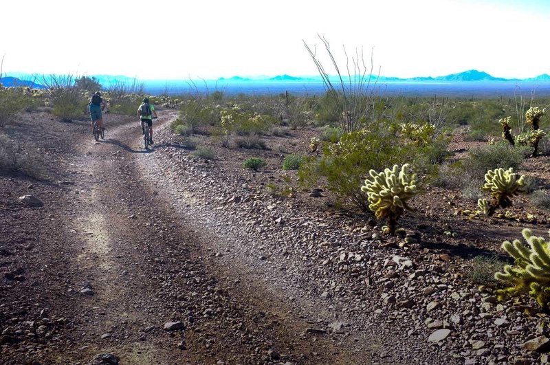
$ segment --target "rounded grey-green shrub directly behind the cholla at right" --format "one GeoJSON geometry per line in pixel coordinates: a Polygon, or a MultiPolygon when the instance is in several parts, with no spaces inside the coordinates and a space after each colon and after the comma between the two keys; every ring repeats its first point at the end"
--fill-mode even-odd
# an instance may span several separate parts
{"type": "Polygon", "coordinates": [[[487,170],[495,168],[511,167],[517,170],[528,154],[528,148],[513,148],[503,141],[473,148],[461,165],[465,177],[463,181],[473,180],[481,183],[487,170]]]}

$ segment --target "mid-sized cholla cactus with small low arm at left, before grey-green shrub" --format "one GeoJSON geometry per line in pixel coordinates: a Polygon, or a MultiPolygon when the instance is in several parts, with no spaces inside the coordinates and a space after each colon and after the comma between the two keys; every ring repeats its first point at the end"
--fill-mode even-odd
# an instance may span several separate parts
{"type": "Polygon", "coordinates": [[[520,176],[518,179],[514,173],[514,168],[505,170],[503,168],[495,168],[488,170],[485,174],[485,184],[481,190],[491,192],[493,202],[488,203],[487,199],[479,199],[477,205],[485,215],[492,216],[496,208],[508,208],[511,206],[510,198],[514,195],[527,192],[527,184],[525,184],[525,176],[520,176]]]}

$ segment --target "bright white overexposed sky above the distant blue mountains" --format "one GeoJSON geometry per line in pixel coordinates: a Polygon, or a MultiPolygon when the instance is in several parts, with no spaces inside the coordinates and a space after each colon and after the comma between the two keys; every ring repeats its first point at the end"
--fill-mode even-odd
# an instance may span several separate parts
{"type": "MultiPolygon", "coordinates": [[[[149,78],[316,75],[325,36],[341,67],[382,76],[550,74],[549,0],[8,0],[3,71],[149,78]]],[[[333,74],[325,60],[327,71],[333,74]]]]}

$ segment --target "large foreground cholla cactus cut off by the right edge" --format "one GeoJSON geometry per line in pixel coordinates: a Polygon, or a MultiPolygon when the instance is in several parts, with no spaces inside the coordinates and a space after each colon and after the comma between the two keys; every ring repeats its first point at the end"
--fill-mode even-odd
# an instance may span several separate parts
{"type": "MultiPolygon", "coordinates": [[[[549,232],[550,234],[550,232],[549,232]]],[[[516,262],[514,266],[506,265],[504,272],[494,274],[496,280],[508,285],[496,291],[500,300],[509,296],[529,293],[540,307],[550,308],[550,242],[542,237],[533,236],[527,228],[522,231],[523,238],[529,244],[525,246],[520,240],[514,243],[503,242],[503,249],[516,262]]]]}

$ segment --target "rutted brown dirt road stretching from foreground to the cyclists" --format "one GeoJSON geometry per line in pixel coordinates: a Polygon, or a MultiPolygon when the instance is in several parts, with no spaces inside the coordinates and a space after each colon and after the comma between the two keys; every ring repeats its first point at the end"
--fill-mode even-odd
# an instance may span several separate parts
{"type": "Polygon", "coordinates": [[[72,166],[83,166],[81,191],[72,199],[80,209],[65,222],[76,241],[67,263],[78,281],[67,313],[74,326],[71,346],[50,360],[110,353],[120,364],[370,363],[368,354],[314,333],[281,298],[210,263],[210,240],[223,238],[187,224],[162,186],[148,181],[144,161],[153,159],[138,133],[126,124],[104,141],[79,142],[72,166]],[[165,329],[168,322],[175,329],[165,329]]]}

